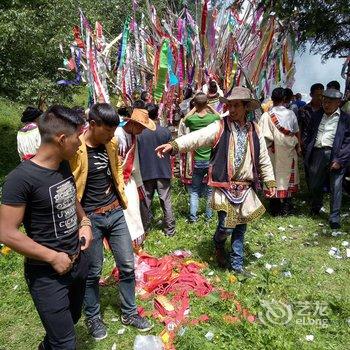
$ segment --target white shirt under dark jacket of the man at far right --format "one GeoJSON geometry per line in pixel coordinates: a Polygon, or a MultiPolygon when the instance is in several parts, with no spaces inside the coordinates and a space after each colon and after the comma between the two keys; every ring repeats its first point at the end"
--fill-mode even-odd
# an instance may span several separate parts
{"type": "Polygon", "coordinates": [[[340,117],[338,108],[332,115],[323,114],[321,123],[318,127],[315,147],[333,147],[335,133],[337,132],[340,117]]]}

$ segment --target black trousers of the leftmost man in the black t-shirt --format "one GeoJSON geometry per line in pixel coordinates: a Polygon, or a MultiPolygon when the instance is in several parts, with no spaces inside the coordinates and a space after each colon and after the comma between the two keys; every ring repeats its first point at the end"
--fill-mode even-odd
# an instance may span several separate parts
{"type": "Polygon", "coordinates": [[[76,349],[74,325],[81,316],[87,274],[83,252],[65,275],[51,265],[24,264],[25,279],[46,331],[45,350],[76,349]]]}

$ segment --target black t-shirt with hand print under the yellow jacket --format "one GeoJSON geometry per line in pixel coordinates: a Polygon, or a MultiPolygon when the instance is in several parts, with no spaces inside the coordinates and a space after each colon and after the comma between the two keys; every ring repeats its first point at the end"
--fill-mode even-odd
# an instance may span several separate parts
{"type": "Polygon", "coordinates": [[[117,199],[106,147],[86,146],[88,176],[81,201],[86,213],[113,203],[117,199]]]}

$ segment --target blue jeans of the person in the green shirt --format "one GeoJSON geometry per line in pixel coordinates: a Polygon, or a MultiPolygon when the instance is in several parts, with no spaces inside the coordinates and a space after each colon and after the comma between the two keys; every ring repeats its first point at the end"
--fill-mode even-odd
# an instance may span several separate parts
{"type": "MultiPolygon", "coordinates": [[[[197,221],[197,211],[199,205],[199,196],[201,189],[203,187],[203,179],[208,174],[209,161],[198,161],[194,162],[194,169],[192,174],[192,185],[190,191],[190,221],[197,221]]],[[[206,196],[206,210],[205,216],[210,219],[213,216],[213,211],[211,209],[211,187],[205,185],[205,196],[206,196]]]]}

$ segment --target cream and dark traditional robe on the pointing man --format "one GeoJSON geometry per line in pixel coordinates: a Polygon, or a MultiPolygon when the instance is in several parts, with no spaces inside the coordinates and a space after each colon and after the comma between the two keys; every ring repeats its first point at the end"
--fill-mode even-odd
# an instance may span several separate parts
{"type": "Polygon", "coordinates": [[[267,188],[276,184],[265,140],[257,124],[247,122],[240,127],[226,117],[177,138],[173,145],[180,152],[213,147],[208,184],[213,187],[213,209],[227,213],[226,227],[249,223],[265,212],[256,194],[259,179],[267,188]]]}

